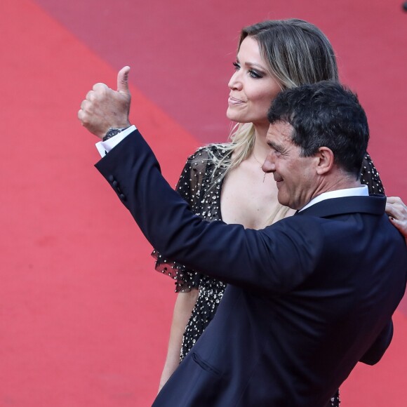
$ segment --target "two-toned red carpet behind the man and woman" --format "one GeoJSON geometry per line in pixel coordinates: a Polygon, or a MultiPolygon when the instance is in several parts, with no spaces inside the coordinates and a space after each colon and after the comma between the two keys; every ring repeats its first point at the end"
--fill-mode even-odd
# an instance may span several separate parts
{"type": "MultiPolygon", "coordinates": [[[[366,108],[387,194],[406,194],[407,13],[401,1],[2,0],[0,407],[149,406],[175,295],[151,247],[93,168],[97,141],[76,112],[131,65],[133,121],[175,184],[188,154],[225,140],[239,29],[314,22],[366,108]]],[[[343,406],[407,403],[407,305],[343,406]]]]}

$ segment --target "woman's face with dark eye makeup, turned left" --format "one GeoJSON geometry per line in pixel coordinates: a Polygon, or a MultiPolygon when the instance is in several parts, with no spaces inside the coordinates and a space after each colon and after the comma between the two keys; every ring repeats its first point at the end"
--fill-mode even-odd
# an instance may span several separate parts
{"type": "Polygon", "coordinates": [[[236,72],[229,81],[227,118],[268,127],[267,111],[281,86],[269,74],[255,39],[250,36],[243,39],[234,66],[236,72]]]}

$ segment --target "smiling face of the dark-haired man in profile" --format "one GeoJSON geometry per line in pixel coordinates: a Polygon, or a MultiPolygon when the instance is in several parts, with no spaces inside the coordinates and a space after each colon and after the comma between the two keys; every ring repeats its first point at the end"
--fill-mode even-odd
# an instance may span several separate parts
{"type": "Polygon", "coordinates": [[[291,140],[292,133],[293,127],[283,121],[269,126],[267,144],[270,152],[262,169],[266,173],[273,173],[279,190],[279,203],[301,209],[314,197],[318,187],[318,157],[302,157],[300,147],[291,140]]]}

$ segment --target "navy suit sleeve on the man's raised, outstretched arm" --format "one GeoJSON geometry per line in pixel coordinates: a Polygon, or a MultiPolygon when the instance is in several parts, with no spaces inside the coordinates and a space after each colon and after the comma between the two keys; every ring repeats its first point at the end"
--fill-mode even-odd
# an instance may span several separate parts
{"type": "Polygon", "coordinates": [[[258,292],[291,291],[314,271],[321,256],[323,234],[312,217],[287,218],[262,231],[201,220],[164,180],[138,131],[96,168],[156,250],[225,283],[258,292]]]}

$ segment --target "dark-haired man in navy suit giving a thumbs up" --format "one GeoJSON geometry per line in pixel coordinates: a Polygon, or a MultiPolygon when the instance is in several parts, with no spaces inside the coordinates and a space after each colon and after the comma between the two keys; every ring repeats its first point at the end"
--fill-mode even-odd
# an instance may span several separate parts
{"type": "Polygon", "coordinates": [[[403,237],[385,197],[359,182],[368,124],[356,96],[321,82],[274,100],[262,168],[299,212],[257,231],[193,215],[135,127],[121,131],[127,74],[79,111],[100,138],[113,128],[96,167],[162,255],[228,283],[154,406],[325,406],[358,361],[384,354],[406,288],[403,237]]]}

